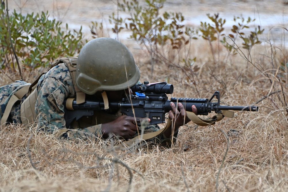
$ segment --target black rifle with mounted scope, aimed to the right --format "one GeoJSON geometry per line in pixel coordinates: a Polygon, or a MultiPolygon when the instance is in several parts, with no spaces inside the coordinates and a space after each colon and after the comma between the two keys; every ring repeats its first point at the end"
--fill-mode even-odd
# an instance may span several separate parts
{"type": "MultiPolygon", "coordinates": [[[[172,110],[170,102],[182,103],[186,111],[192,111],[192,105],[197,108],[198,115],[208,115],[211,111],[221,113],[221,110],[233,111],[258,111],[257,106],[225,106],[220,105],[220,93],[216,91],[211,99],[202,98],[171,98],[168,100],[166,94],[172,94],[174,87],[166,82],[136,84],[131,88],[136,95],[131,95],[131,98],[123,98],[119,102],[109,102],[109,109],[120,109],[121,113],[131,117],[149,118],[150,125],[165,123],[165,114],[172,110]],[[216,97],[217,102],[212,102],[216,97]]],[[[86,100],[85,103],[76,104],[73,100],[71,110],[66,108],[65,100],[65,121],[68,128],[70,123],[84,116],[92,116],[94,110],[105,110],[102,100],[86,100]],[[74,111],[73,111],[74,110],[74,111]]]]}

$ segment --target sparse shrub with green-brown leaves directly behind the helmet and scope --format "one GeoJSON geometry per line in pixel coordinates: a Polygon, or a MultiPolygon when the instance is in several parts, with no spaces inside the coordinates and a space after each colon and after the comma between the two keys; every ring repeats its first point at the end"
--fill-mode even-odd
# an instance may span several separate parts
{"type": "Polygon", "coordinates": [[[181,70],[184,70],[186,66],[185,69],[193,73],[191,69],[193,62],[190,61],[195,58],[190,59],[188,55],[191,40],[197,39],[197,31],[183,25],[185,18],[182,13],[160,14],[165,1],[145,0],[143,7],[137,0],[118,2],[118,12],[128,16],[121,18],[118,12],[109,16],[109,22],[114,26],[112,31],[118,37],[120,31],[127,29],[132,33],[131,39],[144,45],[151,58],[151,75],[153,75],[153,67],[157,61],[181,70]]]}

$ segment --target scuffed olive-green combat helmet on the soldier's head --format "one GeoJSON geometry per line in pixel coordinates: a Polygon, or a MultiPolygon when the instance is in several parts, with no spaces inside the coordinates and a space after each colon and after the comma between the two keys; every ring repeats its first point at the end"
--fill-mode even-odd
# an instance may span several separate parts
{"type": "Polygon", "coordinates": [[[128,48],[112,38],[96,38],[81,49],[76,84],[86,94],[119,91],[135,85],[140,71],[128,48]]]}

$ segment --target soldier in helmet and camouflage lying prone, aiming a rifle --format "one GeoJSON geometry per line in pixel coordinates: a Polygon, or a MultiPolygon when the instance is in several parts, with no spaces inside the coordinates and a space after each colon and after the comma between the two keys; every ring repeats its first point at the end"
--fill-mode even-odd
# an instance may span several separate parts
{"type": "MultiPolygon", "coordinates": [[[[63,138],[132,139],[139,134],[137,123],[150,119],[122,115],[105,106],[105,111],[95,111],[93,116],[75,120],[66,127],[64,100],[76,98],[77,104],[88,98],[97,98],[106,104],[118,101],[131,94],[130,87],[139,79],[139,68],[124,44],[111,38],[93,39],[84,45],[78,58],[56,60],[34,83],[20,80],[1,87],[1,126],[6,122],[25,126],[36,122],[37,130],[63,138]]],[[[170,104],[172,110],[168,117],[172,123],[148,142],[171,146],[172,141],[176,141],[179,127],[190,121],[181,103],[178,106],[173,102],[170,104]]],[[[197,113],[194,105],[192,111],[197,113]]],[[[147,125],[143,129],[144,133],[149,133],[160,128],[147,125]]]]}

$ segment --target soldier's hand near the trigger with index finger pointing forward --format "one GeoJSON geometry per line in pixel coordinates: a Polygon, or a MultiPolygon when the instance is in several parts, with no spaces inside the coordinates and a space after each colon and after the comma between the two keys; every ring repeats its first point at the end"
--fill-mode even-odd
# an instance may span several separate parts
{"type": "Polygon", "coordinates": [[[136,123],[140,123],[142,121],[149,122],[150,119],[137,117],[135,122],[134,117],[122,115],[114,121],[102,124],[102,136],[103,138],[117,136],[120,139],[131,139],[136,133],[138,133],[136,123]]]}

